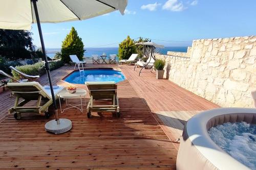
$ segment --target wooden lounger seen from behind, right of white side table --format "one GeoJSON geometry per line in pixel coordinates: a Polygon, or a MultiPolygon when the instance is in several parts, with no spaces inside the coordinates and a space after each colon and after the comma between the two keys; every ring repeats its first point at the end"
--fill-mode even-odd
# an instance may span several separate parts
{"type": "Polygon", "coordinates": [[[90,101],[87,106],[88,118],[92,117],[91,112],[114,112],[117,117],[120,116],[117,84],[115,82],[86,82],[86,85],[90,94],[90,101]],[[103,101],[103,104],[106,103],[106,105],[97,105],[96,101],[103,101]]]}

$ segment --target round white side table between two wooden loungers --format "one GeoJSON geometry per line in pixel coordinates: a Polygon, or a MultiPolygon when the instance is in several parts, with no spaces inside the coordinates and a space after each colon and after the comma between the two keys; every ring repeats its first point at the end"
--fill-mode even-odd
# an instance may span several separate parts
{"type": "Polygon", "coordinates": [[[70,109],[70,108],[77,108],[82,112],[82,98],[84,98],[84,106],[86,106],[86,94],[87,91],[83,89],[77,89],[75,93],[69,93],[68,90],[62,90],[58,93],[59,97],[59,105],[60,105],[60,111],[63,113],[65,110],[70,109]],[[66,106],[71,106],[65,109],[61,109],[61,103],[60,103],[60,98],[66,100],[66,106]],[[68,99],[80,99],[81,104],[79,105],[71,105],[68,104],[68,99]],[[78,106],[81,106],[81,108],[78,108],[78,106]]]}

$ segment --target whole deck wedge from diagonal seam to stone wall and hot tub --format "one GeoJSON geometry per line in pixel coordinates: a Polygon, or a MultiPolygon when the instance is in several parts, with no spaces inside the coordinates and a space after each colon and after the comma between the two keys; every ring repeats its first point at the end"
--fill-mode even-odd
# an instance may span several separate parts
{"type": "MultiPolygon", "coordinates": [[[[168,80],[157,80],[155,72],[134,66],[121,66],[129,83],[145,99],[152,114],[170,140],[177,140],[187,119],[203,110],[220,107],[168,80]],[[160,118],[160,119],[158,119],[160,118]]],[[[178,149],[179,144],[174,143],[178,149]]]]}

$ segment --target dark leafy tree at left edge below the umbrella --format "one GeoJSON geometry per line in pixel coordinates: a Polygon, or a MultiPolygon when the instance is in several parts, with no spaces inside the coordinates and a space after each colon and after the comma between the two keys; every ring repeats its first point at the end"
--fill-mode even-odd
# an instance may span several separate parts
{"type": "Polygon", "coordinates": [[[29,31],[0,29],[0,55],[9,60],[31,58],[35,51],[32,40],[29,31]]]}

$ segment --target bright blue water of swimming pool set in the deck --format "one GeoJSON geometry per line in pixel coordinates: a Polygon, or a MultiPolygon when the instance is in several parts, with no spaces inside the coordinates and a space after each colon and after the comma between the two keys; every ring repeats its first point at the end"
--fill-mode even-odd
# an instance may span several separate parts
{"type": "Polygon", "coordinates": [[[75,71],[69,75],[65,81],[74,84],[84,84],[84,82],[108,82],[118,83],[125,80],[121,71],[113,69],[85,69],[84,71],[75,71]]]}

